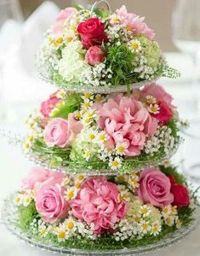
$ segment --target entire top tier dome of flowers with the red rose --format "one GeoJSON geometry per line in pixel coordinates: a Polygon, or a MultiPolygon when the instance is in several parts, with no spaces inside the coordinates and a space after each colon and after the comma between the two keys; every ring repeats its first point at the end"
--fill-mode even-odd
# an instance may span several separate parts
{"type": "Polygon", "coordinates": [[[114,14],[95,6],[67,8],[46,33],[37,69],[50,83],[80,92],[124,91],[179,76],[154,38],[144,17],[128,13],[125,6],[114,14]]]}

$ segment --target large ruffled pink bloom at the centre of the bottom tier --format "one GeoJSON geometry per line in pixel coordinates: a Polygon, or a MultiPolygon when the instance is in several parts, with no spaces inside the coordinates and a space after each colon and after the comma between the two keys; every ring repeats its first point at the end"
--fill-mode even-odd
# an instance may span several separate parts
{"type": "Polygon", "coordinates": [[[125,217],[128,205],[118,200],[117,185],[106,177],[88,177],[70,201],[72,214],[87,224],[94,224],[94,233],[100,234],[112,230],[125,217]]]}

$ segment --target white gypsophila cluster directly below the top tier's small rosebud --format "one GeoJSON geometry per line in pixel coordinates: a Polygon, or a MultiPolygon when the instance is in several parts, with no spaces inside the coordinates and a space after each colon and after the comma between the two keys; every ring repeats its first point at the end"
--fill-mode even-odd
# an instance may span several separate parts
{"type": "Polygon", "coordinates": [[[93,85],[94,87],[98,86],[111,86],[110,82],[107,82],[106,79],[111,80],[112,72],[111,68],[106,68],[104,62],[96,65],[95,67],[86,67],[80,75],[80,81],[83,84],[93,85]]]}

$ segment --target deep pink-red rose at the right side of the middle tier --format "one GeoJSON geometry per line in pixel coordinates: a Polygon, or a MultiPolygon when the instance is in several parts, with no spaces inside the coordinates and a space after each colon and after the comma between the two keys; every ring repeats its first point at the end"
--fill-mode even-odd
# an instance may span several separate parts
{"type": "Polygon", "coordinates": [[[166,102],[160,102],[159,108],[159,113],[152,114],[152,116],[158,119],[163,125],[166,125],[172,118],[172,108],[170,108],[166,102]]]}

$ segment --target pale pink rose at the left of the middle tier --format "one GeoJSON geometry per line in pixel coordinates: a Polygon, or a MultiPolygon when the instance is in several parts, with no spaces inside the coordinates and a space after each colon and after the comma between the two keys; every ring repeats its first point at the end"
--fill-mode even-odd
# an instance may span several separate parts
{"type": "Polygon", "coordinates": [[[49,147],[58,146],[65,148],[82,130],[82,124],[74,118],[73,113],[69,113],[68,119],[54,118],[46,125],[44,130],[44,142],[49,147]]]}

